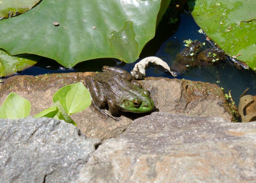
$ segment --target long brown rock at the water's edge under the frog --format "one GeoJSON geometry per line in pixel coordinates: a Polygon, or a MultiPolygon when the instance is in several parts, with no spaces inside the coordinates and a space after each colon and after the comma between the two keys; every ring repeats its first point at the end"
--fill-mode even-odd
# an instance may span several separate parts
{"type": "MultiPolygon", "coordinates": [[[[52,96],[58,89],[80,81],[85,83],[85,77],[93,74],[12,76],[4,79],[4,83],[0,83],[0,105],[10,92],[15,92],[31,102],[30,115],[36,115],[53,104],[52,96]]],[[[220,116],[228,121],[235,119],[228,108],[222,90],[216,84],[154,77],[139,82],[151,92],[159,111],[188,116],[220,116]]],[[[149,114],[123,113],[118,122],[90,106],[71,117],[86,137],[104,141],[119,136],[133,119],[149,114]]]]}

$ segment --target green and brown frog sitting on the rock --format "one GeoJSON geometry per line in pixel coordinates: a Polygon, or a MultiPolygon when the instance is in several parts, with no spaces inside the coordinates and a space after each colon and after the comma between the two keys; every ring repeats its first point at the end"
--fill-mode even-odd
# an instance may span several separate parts
{"type": "Polygon", "coordinates": [[[122,112],[146,113],[154,108],[153,100],[147,90],[133,76],[120,68],[103,66],[103,72],[86,78],[91,93],[92,104],[102,114],[110,116],[122,112]],[[108,111],[103,108],[108,106],[108,111]]]}

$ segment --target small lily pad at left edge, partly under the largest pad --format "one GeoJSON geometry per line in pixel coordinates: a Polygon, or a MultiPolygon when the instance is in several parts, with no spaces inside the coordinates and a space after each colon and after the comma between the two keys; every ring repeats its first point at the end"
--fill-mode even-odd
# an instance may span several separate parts
{"type": "Polygon", "coordinates": [[[40,58],[31,55],[27,56],[12,56],[4,50],[0,49],[0,77],[10,76],[17,71],[29,68],[37,63],[40,58]],[[31,60],[33,59],[33,60],[31,60]]]}

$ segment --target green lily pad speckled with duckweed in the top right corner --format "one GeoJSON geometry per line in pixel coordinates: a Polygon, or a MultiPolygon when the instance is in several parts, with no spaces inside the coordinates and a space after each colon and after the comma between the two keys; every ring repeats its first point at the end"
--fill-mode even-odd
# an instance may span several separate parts
{"type": "Polygon", "coordinates": [[[256,1],[196,0],[193,18],[229,56],[256,70],[256,1]],[[241,56],[238,56],[241,54],[241,56]]]}

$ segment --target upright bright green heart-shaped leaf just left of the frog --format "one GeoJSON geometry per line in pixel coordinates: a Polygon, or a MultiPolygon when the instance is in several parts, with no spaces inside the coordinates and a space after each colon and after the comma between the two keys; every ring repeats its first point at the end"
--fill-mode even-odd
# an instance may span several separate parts
{"type": "Polygon", "coordinates": [[[91,105],[90,92],[81,82],[60,88],[52,100],[59,100],[68,115],[78,113],[91,105]]]}

